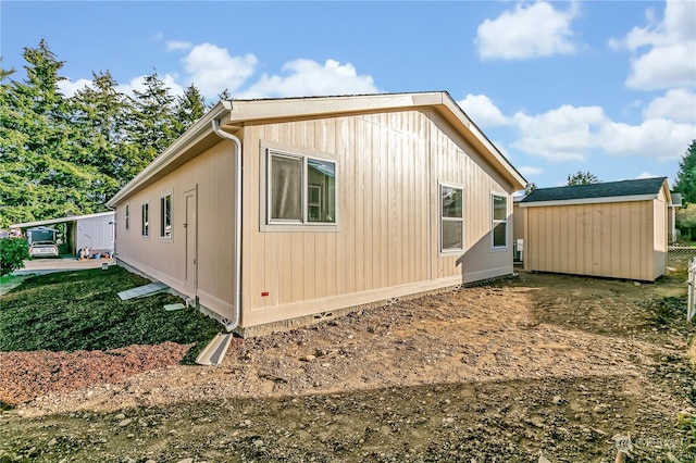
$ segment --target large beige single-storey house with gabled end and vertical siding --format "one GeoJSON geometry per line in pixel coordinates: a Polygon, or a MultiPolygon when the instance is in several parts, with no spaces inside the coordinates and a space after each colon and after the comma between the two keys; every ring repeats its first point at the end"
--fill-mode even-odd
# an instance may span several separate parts
{"type": "Polygon", "coordinates": [[[109,205],[121,265],[257,336],[511,274],[524,184],[446,92],[235,100],[109,205]]]}

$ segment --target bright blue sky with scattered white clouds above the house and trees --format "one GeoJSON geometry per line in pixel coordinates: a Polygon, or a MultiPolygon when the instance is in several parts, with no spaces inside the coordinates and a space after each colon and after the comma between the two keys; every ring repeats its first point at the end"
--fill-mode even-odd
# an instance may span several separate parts
{"type": "Polygon", "coordinates": [[[696,139],[696,1],[0,1],[2,66],[41,38],[72,95],[110,71],[235,98],[446,90],[529,182],[672,184],[696,139]]]}

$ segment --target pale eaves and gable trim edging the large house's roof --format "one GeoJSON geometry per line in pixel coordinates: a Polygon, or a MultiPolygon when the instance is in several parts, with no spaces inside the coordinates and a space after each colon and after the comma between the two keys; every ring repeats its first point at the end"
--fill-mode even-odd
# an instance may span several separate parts
{"type": "MultiPolygon", "coordinates": [[[[115,207],[171,170],[196,157],[200,150],[220,141],[211,128],[219,121],[222,129],[239,133],[245,124],[328,117],[344,114],[368,114],[384,111],[433,108],[449,122],[513,186],[524,188],[526,180],[485,136],[446,91],[412,93],[376,93],[309,98],[273,98],[259,100],[222,100],[198,120],[144,171],[126,184],[107,204],[115,207]]],[[[244,142],[244,139],[243,139],[244,142]]]]}

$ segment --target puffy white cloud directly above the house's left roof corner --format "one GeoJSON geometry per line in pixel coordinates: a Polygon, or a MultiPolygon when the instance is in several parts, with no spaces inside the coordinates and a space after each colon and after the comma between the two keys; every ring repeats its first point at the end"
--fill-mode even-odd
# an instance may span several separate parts
{"type": "Polygon", "coordinates": [[[232,57],[227,49],[212,43],[192,47],[182,61],[189,80],[207,98],[214,98],[225,89],[234,93],[253,74],[257,64],[251,53],[232,57]]]}

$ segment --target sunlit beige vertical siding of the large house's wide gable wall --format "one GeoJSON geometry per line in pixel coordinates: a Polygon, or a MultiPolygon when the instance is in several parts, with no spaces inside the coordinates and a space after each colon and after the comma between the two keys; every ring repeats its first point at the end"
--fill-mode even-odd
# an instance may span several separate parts
{"type": "Polygon", "coordinates": [[[243,326],[510,274],[492,251],[490,193],[511,187],[430,111],[247,125],[243,326]],[[337,233],[260,230],[263,143],[337,163],[337,233]],[[464,255],[438,253],[439,184],[464,190],[464,255]],[[268,296],[262,296],[266,293],[268,296]]]}

